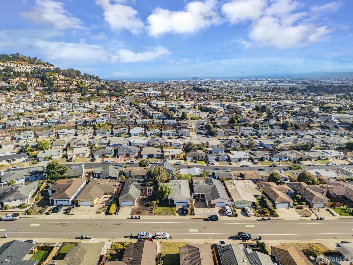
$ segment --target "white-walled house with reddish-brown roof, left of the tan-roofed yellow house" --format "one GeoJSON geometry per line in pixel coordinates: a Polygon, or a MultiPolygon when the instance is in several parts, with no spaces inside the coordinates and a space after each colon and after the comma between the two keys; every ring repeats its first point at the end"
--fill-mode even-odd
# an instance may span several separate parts
{"type": "Polygon", "coordinates": [[[53,202],[54,206],[71,205],[85,186],[85,179],[58,179],[48,188],[49,201],[53,202]]]}

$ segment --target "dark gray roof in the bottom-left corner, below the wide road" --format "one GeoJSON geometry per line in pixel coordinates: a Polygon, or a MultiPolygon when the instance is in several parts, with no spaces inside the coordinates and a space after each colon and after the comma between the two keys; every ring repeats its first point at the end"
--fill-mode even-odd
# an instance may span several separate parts
{"type": "Polygon", "coordinates": [[[35,265],[39,260],[23,260],[35,244],[13,240],[0,247],[0,263],[7,265],[35,265]]]}

